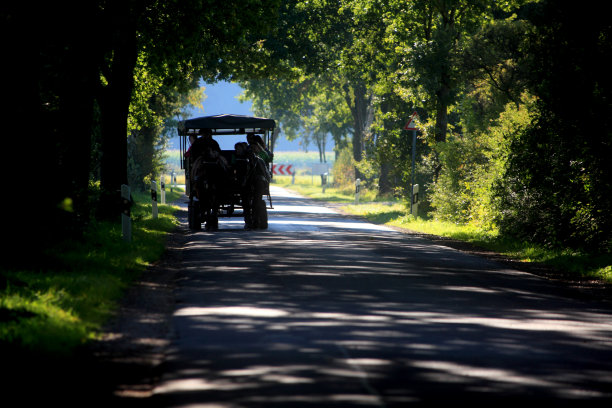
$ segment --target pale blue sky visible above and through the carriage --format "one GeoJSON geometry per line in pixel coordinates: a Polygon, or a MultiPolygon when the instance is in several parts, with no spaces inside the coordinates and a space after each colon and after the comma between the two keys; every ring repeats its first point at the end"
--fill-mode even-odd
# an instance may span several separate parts
{"type": "MultiPolygon", "coordinates": [[[[254,113],[251,111],[251,101],[241,103],[238,100],[238,95],[242,93],[242,88],[240,88],[240,86],[237,84],[231,82],[218,82],[216,84],[203,83],[202,86],[205,87],[204,93],[207,97],[202,102],[202,109],[194,109],[192,111],[192,118],[221,115],[225,113],[254,116],[254,113]]],[[[297,141],[289,142],[284,139],[282,134],[281,138],[282,140],[279,140],[276,144],[276,151],[300,150],[300,145],[297,141]]],[[[171,141],[170,148],[178,149],[178,137],[173,139],[174,140],[171,141]],[[174,145],[177,147],[174,147],[174,145]]],[[[234,144],[236,142],[243,141],[242,139],[244,139],[244,136],[224,136],[222,138],[218,138],[217,141],[219,142],[221,149],[229,150],[234,148],[234,144]]],[[[312,148],[314,148],[314,146],[311,147],[311,149],[312,148]]]]}

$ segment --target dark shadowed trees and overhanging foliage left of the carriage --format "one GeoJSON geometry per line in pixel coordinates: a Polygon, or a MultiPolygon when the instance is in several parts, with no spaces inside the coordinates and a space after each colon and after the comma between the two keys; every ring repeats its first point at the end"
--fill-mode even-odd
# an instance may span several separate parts
{"type": "Polygon", "coordinates": [[[15,246],[42,248],[78,237],[91,214],[92,178],[102,188],[97,216],[116,220],[118,191],[128,183],[130,106],[146,99],[143,88],[160,80],[184,94],[202,77],[255,72],[257,41],[277,6],[277,0],[3,5],[1,34],[10,39],[4,64],[10,86],[3,94],[9,106],[3,117],[7,139],[19,140],[8,149],[15,159],[9,168],[23,175],[27,192],[24,217],[9,226],[15,246]],[[137,75],[143,70],[149,77],[137,75]]]}

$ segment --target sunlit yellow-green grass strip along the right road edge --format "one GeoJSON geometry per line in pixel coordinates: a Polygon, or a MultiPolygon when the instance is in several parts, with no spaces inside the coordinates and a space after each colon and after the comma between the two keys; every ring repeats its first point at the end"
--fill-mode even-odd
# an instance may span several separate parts
{"type": "MultiPolygon", "coordinates": [[[[284,176],[288,177],[288,176],[284,176]]],[[[359,215],[375,224],[385,224],[423,234],[430,234],[468,242],[476,247],[491,250],[520,262],[542,263],[554,268],[559,275],[577,279],[594,279],[612,283],[612,254],[589,254],[570,249],[549,249],[529,242],[501,236],[496,230],[483,230],[473,225],[459,225],[435,219],[413,217],[404,202],[384,200],[377,202],[373,192],[363,192],[360,204],[355,204],[354,190],[327,188],[325,193],[319,185],[308,178],[291,180],[278,177],[277,185],[304,196],[335,203],[344,203],[343,210],[359,215]]]]}

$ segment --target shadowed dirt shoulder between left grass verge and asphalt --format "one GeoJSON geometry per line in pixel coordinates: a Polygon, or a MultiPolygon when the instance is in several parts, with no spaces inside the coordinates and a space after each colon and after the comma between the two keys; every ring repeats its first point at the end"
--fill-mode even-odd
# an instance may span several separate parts
{"type": "Polygon", "coordinates": [[[134,406],[152,395],[172,338],[174,290],[181,268],[181,249],[189,238],[186,211],[169,234],[163,258],[151,265],[126,291],[100,339],[89,345],[98,379],[113,403],[134,406]]]}

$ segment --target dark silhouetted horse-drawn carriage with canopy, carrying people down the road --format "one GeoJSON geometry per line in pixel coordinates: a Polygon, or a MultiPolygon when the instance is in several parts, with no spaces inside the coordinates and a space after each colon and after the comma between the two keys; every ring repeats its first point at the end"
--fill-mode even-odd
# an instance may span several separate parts
{"type": "MultiPolygon", "coordinates": [[[[272,119],[216,115],[179,123],[181,167],[189,196],[189,228],[218,228],[220,216],[242,216],[247,229],[268,227],[272,119]],[[234,149],[219,147],[215,137],[244,135],[234,149]],[[241,212],[236,212],[241,209],[241,212]]],[[[235,138],[234,138],[235,139],[235,138]]]]}

